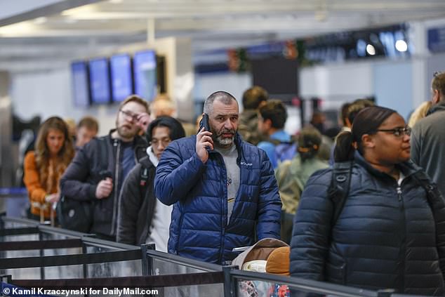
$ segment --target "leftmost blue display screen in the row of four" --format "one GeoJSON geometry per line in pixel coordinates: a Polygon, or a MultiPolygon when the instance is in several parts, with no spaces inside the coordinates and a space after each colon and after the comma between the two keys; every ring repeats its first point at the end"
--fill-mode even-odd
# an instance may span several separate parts
{"type": "Polygon", "coordinates": [[[87,107],[90,105],[90,92],[88,89],[88,72],[86,62],[72,62],[71,76],[74,106],[87,107]]]}

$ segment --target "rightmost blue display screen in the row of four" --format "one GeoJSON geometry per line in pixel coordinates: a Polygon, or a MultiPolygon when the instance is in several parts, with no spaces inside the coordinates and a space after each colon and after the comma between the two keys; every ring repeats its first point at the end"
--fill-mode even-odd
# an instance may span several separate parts
{"type": "Polygon", "coordinates": [[[157,93],[156,53],[140,51],[133,58],[135,93],[152,101],[157,93]]]}

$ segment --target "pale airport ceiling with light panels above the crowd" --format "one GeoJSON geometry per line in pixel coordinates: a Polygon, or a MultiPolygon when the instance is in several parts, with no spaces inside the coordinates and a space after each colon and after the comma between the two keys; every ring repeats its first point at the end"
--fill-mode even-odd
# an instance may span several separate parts
{"type": "MultiPolygon", "coordinates": [[[[9,1],[2,0],[5,8],[9,1]]],[[[192,39],[194,55],[445,18],[445,0],[65,0],[0,16],[0,69],[42,70],[126,44],[192,39]]]]}

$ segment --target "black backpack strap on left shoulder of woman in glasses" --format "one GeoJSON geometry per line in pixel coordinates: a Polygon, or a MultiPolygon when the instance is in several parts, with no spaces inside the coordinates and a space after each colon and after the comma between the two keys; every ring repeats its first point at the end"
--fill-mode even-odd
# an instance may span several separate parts
{"type": "Polygon", "coordinates": [[[328,188],[328,197],[333,204],[331,227],[336,225],[340,213],[350,191],[351,173],[354,161],[336,162],[333,165],[331,185],[328,188]]]}

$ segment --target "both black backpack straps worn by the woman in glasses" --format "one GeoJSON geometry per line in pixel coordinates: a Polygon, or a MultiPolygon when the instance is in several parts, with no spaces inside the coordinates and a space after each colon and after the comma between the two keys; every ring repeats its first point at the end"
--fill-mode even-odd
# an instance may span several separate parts
{"type": "MultiPolygon", "coordinates": [[[[331,228],[336,225],[338,217],[343,211],[343,206],[345,206],[347,195],[349,194],[350,190],[352,166],[354,166],[354,161],[336,162],[333,165],[331,185],[329,185],[328,188],[328,197],[331,199],[333,204],[331,228]]],[[[414,173],[413,178],[427,192],[428,205],[432,211],[434,222],[437,225],[438,222],[436,219],[436,211],[437,209],[444,207],[444,199],[441,196],[439,189],[437,189],[437,185],[432,183],[425,171],[418,171],[414,173]]]]}

